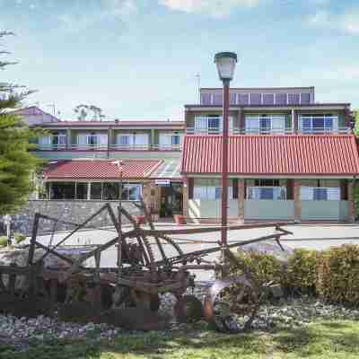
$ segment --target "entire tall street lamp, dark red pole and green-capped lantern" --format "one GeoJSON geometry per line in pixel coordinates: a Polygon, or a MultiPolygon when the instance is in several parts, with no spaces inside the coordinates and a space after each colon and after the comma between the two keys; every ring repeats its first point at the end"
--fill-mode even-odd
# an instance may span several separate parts
{"type": "Polygon", "coordinates": [[[222,230],[221,243],[227,245],[227,208],[228,208],[228,115],[230,111],[230,82],[237,63],[237,54],[219,52],[215,54],[215,65],[223,82],[223,132],[222,132],[222,230]]]}

